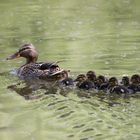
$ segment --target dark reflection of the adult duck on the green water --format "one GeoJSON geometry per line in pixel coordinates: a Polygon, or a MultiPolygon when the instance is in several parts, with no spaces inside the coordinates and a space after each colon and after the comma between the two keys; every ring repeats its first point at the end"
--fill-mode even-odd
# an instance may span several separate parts
{"type": "Polygon", "coordinates": [[[7,88],[23,96],[26,100],[33,100],[41,98],[44,94],[57,93],[58,83],[40,80],[22,81],[7,88]]]}

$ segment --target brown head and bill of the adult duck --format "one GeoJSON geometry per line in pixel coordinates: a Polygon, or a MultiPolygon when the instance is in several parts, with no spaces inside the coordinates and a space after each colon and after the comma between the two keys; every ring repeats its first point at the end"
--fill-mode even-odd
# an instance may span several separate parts
{"type": "Polygon", "coordinates": [[[26,58],[26,64],[35,63],[38,58],[38,52],[32,44],[24,44],[16,53],[9,56],[7,60],[16,59],[19,57],[26,58]]]}

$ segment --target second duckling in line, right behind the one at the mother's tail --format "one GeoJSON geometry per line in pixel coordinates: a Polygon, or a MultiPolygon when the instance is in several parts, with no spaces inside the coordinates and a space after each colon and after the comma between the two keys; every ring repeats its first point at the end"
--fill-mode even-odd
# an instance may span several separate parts
{"type": "Polygon", "coordinates": [[[84,90],[95,89],[94,83],[89,81],[85,74],[78,75],[77,78],[75,79],[75,82],[77,82],[76,86],[79,89],[84,89],[84,90]]]}

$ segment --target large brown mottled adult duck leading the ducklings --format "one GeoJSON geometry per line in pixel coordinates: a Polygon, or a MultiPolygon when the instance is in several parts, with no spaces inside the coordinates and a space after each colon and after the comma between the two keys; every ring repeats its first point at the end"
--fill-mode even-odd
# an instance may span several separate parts
{"type": "Polygon", "coordinates": [[[24,44],[16,53],[9,56],[7,60],[24,57],[26,64],[21,66],[17,75],[24,80],[37,78],[43,80],[59,80],[62,78],[63,69],[55,63],[37,62],[38,52],[32,44],[24,44]]]}

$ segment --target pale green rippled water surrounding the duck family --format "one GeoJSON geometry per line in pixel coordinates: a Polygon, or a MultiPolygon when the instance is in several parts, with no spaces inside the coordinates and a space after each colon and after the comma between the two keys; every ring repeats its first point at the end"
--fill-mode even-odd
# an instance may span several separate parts
{"type": "MultiPolygon", "coordinates": [[[[0,140],[139,140],[139,96],[79,97],[66,91],[25,100],[7,86],[23,59],[5,61],[32,42],[39,60],[64,60],[71,76],[95,70],[121,77],[140,73],[140,1],[1,0],[0,140]]],[[[85,93],[83,93],[85,94],[85,93]]]]}

